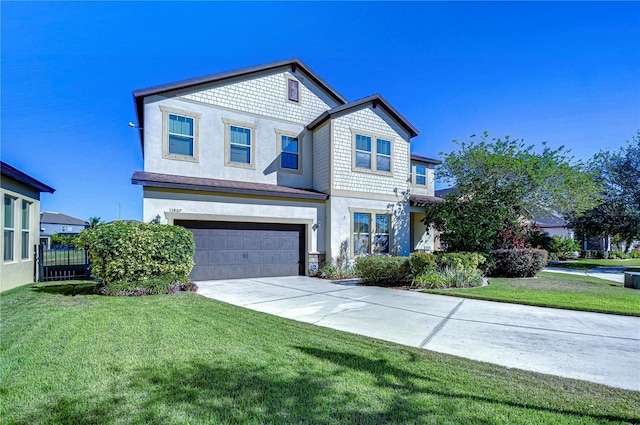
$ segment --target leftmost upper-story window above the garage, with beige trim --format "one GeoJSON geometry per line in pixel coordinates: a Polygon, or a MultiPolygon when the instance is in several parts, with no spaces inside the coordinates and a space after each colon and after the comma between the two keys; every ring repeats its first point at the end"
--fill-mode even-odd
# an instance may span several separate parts
{"type": "Polygon", "coordinates": [[[198,161],[198,128],[202,114],[161,106],[162,157],[198,161]]]}

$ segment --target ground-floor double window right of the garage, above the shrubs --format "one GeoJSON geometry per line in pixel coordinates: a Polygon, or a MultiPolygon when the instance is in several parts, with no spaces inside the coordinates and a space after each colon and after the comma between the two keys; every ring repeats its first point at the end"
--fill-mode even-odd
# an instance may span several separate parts
{"type": "Polygon", "coordinates": [[[354,211],[351,217],[353,255],[391,252],[391,214],[354,211]]]}

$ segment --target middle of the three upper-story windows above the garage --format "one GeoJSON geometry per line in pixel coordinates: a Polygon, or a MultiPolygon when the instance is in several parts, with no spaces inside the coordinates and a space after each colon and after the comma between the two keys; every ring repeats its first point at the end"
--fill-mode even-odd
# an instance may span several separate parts
{"type": "Polygon", "coordinates": [[[224,164],[230,167],[255,169],[254,124],[223,119],[225,123],[224,164]]]}

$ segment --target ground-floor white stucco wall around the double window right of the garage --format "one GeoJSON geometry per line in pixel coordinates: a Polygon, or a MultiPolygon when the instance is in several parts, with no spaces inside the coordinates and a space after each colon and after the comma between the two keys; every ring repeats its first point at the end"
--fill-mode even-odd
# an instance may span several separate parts
{"type": "Polygon", "coordinates": [[[340,243],[345,239],[349,241],[350,251],[353,253],[351,214],[354,209],[362,212],[386,211],[391,214],[391,254],[409,255],[409,204],[404,197],[398,197],[396,201],[379,201],[331,196],[327,209],[330,217],[330,226],[325,229],[329,239],[327,259],[338,255],[340,243]]]}

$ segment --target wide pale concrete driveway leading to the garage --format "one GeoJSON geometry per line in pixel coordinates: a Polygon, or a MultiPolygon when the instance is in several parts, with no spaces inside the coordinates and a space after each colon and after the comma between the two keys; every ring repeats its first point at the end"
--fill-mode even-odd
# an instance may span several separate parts
{"type": "Polygon", "coordinates": [[[301,322],[640,391],[640,317],[530,307],[305,276],[198,282],[198,293],[301,322]]]}

